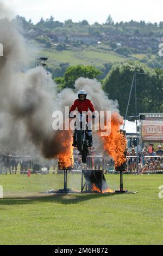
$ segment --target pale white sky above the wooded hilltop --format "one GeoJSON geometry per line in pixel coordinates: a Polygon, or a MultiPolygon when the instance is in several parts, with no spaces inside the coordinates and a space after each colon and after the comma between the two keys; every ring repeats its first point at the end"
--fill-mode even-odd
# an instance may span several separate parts
{"type": "Polygon", "coordinates": [[[109,16],[115,22],[131,19],[146,22],[163,21],[162,0],[0,0],[14,11],[15,15],[32,19],[35,24],[51,15],[54,20],[73,22],[87,20],[90,25],[104,23],[109,16]]]}

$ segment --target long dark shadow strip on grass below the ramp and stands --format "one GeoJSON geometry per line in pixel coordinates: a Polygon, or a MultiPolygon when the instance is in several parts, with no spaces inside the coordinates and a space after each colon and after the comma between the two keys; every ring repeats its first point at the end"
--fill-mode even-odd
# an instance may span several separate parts
{"type": "MultiPolygon", "coordinates": [[[[0,200],[1,205],[27,205],[35,203],[58,203],[58,204],[77,204],[82,201],[112,197],[114,193],[110,194],[53,194],[53,195],[39,195],[34,197],[16,197],[4,198],[0,200]]],[[[0,209],[1,210],[1,209],[0,209]]]]}

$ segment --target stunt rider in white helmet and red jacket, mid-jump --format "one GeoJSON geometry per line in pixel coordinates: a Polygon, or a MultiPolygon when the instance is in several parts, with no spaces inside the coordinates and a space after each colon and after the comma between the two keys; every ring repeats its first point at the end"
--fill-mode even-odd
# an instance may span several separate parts
{"type": "MultiPolygon", "coordinates": [[[[78,99],[76,99],[73,103],[73,105],[70,108],[70,113],[71,111],[78,110],[80,114],[82,114],[82,111],[88,111],[89,109],[91,112],[95,111],[95,108],[91,102],[90,99],[86,99],[87,93],[84,90],[80,90],[78,92],[78,99]]],[[[92,118],[95,118],[95,115],[92,115],[92,118]]],[[[87,130],[87,135],[88,135],[88,141],[89,141],[89,147],[92,147],[93,142],[92,142],[92,130],[87,130]]],[[[76,146],[76,136],[75,133],[73,134],[73,144],[72,146],[76,146]]]]}

